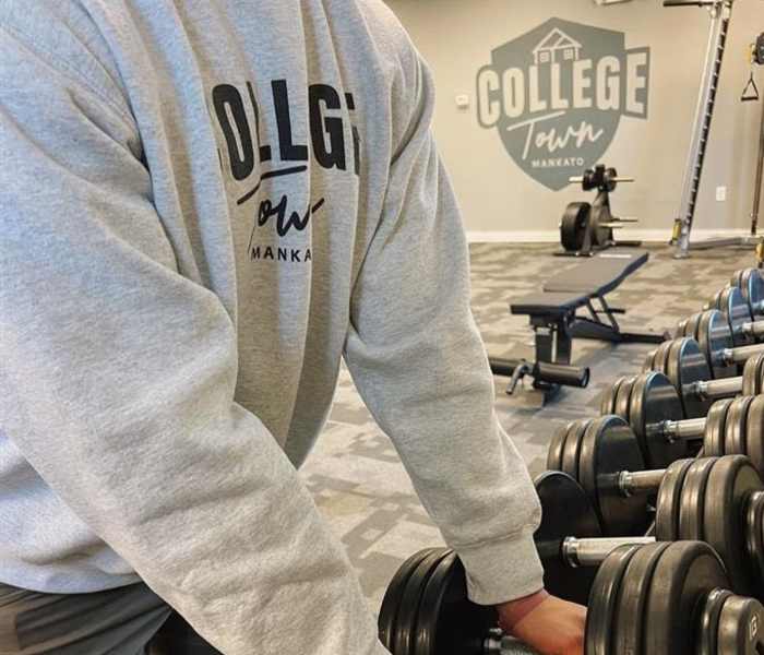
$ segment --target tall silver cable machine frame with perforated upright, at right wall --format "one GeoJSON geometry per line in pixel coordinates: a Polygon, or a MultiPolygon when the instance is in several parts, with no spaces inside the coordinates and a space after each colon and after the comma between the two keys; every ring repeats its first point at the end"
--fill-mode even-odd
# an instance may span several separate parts
{"type": "MultiPolygon", "coordinates": [[[[690,154],[682,183],[682,200],[679,216],[675,222],[671,242],[676,246],[675,258],[685,259],[690,250],[709,250],[730,246],[764,248],[764,237],[756,235],[759,200],[754,199],[754,210],[751,221],[751,235],[708,239],[691,242],[690,236],[697,206],[697,195],[703,177],[703,164],[711,138],[711,124],[714,117],[716,95],[721,75],[725,48],[729,25],[732,17],[733,0],[665,0],[664,7],[707,7],[711,13],[711,29],[708,33],[708,46],[703,73],[703,83],[697,99],[693,136],[690,145],[690,154]]],[[[760,150],[760,169],[764,153],[764,122],[762,123],[762,148],[760,150]]],[[[761,174],[757,176],[757,187],[761,186],[761,174]]],[[[759,194],[756,194],[759,196],[759,194]]]]}

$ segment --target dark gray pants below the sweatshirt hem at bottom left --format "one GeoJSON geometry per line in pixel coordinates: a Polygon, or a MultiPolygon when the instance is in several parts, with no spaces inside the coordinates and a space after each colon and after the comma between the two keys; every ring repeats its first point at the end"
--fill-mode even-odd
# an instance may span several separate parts
{"type": "Polygon", "coordinates": [[[220,655],[145,584],[40,594],[0,584],[0,655],[220,655]]]}

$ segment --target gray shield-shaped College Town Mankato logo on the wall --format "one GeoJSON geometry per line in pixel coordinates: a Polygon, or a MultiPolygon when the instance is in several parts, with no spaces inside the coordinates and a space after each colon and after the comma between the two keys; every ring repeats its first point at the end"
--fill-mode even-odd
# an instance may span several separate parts
{"type": "Polygon", "coordinates": [[[649,55],[626,49],[622,32],[551,19],[493,50],[477,78],[478,121],[559,191],[601,158],[622,116],[647,118],[649,55]]]}

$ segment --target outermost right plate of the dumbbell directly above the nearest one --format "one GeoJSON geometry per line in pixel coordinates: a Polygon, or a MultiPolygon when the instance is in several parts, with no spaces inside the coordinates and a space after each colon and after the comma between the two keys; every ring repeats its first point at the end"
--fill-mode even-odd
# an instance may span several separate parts
{"type": "Polygon", "coordinates": [[[706,485],[704,508],[705,540],[724,560],[731,588],[737,594],[757,595],[747,565],[743,534],[745,502],[752,491],[762,489],[762,480],[748,457],[720,457],[712,468],[706,485]]]}

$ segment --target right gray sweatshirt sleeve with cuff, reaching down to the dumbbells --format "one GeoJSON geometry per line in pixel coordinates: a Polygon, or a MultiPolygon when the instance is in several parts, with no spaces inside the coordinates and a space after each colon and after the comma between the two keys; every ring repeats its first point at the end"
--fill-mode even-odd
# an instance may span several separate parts
{"type": "Polygon", "coordinates": [[[354,289],[345,357],[425,508],[459,553],[470,597],[497,604],[542,587],[533,541],[540,509],[496,415],[469,308],[464,228],[430,128],[433,83],[418,57],[413,68],[414,93],[403,97],[414,107],[354,289]]]}

